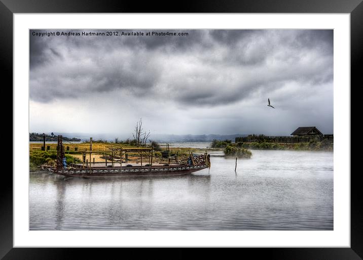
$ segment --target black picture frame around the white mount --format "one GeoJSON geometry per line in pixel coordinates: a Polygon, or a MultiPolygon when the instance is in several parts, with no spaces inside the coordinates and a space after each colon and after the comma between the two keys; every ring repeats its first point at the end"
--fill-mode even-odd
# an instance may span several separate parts
{"type": "MultiPolygon", "coordinates": [[[[279,1],[184,1],[178,5],[149,2],[101,0],[0,0],[1,68],[4,86],[13,85],[13,14],[16,13],[349,13],[351,33],[351,86],[362,86],[363,61],[363,3],[362,0],[279,0],[279,1]],[[4,81],[5,79],[5,81],[4,81]],[[6,82],[6,83],[4,83],[6,82]]],[[[354,95],[351,95],[354,98],[354,95]]],[[[357,98],[357,97],[355,97],[357,98]]],[[[352,111],[353,112],[353,111],[352,111]]],[[[352,117],[351,117],[352,118],[352,117]]],[[[356,121],[351,121],[351,126],[356,121]]],[[[14,140],[13,136],[13,140],[14,140]]],[[[352,146],[351,146],[352,147],[352,146]]],[[[16,156],[17,151],[13,151],[16,156]]],[[[351,162],[358,161],[351,152],[351,162]],[[354,160],[355,159],[355,160],[354,160]]],[[[13,158],[13,163],[16,161],[13,158]]],[[[278,259],[361,259],[363,258],[363,196],[360,192],[360,171],[346,172],[351,180],[351,247],[350,248],[238,248],[238,254],[252,253],[253,257],[268,256],[278,259]]],[[[105,256],[106,252],[122,250],[122,256],[139,256],[138,248],[13,248],[13,178],[3,172],[0,189],[0,258],[4,259],[63,259],[75,258],[82,250],[82,257],[105,256]]],[[[237,249],[233,249],[237,250],[237,249]]],[[[233,253],[233,250],[231,253],[233,253]]],[[[215,248],[203,253],[217,256],[215,248]]],[[[222,252],[224,253],[224,252],[222,252]]],[[[194,255],[191,248],[158,249],[143,251],[149,257],[187,258],[194,255]],[[162,250],[162,251],[160,251],[162,250]],[[170,251],[171,250],[171,251],[170,251]],[[164,256],[164,257],[163,257],[164,256]]]]}

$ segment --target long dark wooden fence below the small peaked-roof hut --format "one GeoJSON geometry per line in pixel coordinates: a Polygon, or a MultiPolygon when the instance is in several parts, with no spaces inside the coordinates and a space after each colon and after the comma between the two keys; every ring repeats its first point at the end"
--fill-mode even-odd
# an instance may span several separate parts
{"type": "Polygon", "coordinates": [[[321,142],[328,140],[334,143],[333,135],[319,135],[319,136],[264,136],[264,137],[236,137],[235,142],[254,143],[254,142],[268,142],[268,143],[309,143],[321,142]]]}

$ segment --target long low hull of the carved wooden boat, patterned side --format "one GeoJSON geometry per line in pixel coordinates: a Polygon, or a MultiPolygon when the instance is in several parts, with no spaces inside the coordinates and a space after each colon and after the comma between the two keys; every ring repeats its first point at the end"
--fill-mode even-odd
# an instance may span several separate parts
{"type": "Polygon", "coordinates": [[[55,174],[80,178],[147,177],[188,175],[207,168],[206,165],[156,166],[156,167],[97,167],[97,168],[49,168],[55,174]]]}

